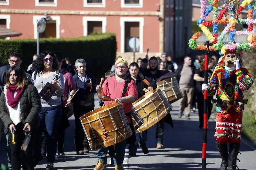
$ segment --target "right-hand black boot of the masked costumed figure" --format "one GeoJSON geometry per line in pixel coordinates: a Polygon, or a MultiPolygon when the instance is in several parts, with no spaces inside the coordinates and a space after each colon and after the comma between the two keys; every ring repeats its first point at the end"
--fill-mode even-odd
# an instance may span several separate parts
{"type": "Polygon", "coordinates": [[[240,147],[239,143],[229,144],[228,170],[236,170],[236,167],[237,167],[236,166],[236,159],[237,159],[237,154],[238,154],[239,147],[240,147]]]}

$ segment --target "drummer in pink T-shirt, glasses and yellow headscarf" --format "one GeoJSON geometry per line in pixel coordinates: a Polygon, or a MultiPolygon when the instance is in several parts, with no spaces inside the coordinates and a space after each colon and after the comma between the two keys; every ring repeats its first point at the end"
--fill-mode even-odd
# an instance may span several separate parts
{"type": "MultiPolygon", "coordinates": [[[[115,99],[116,103],[121,103],[124,108],[124,113],[126,114],[127,120],[131,122],[131,110],[132,102],[137,99],[137,87],[135,82],[126,76],[128,71],[128,63],[124,58],[119,58],[115,63],[116,76],[106,79],[102,86],[97,86],[96,90],[98,92],[98,97],[102,99],[102,96],[107,96],[108,98],[115,99]],[[127,85],[127,89],[124,97],[123,91],[124,87],[127,85]]],[[[104,105],[113,103],[113,101],[105,100],[104,105]]],[[[134,128],[131,126],[131,129],[134,128]]],[[[135,136],[135,135],[134,135],[135,136]]],[[[136,138],[135,138],[136,141],[136,138]]],[[[116,170],[123,170],[123,160],[125,153],[126,140],[123,140],[115,145],[115,157],[114,165],[116,170]]],[[[95,166],[94,170],[101,170],[107,167],[107,153],[108,148],[102,148],[98,150],[97,157],[99,158],[98,164],[95,166]]]]}

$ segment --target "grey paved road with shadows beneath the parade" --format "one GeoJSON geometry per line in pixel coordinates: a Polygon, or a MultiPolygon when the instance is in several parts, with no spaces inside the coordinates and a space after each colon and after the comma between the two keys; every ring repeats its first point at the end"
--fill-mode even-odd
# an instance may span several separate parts
{"type": "MultiPolygon", "coordinates": [[[[98,101],[95,101],[95,108],[98,108],[98,101]]],[[[164,149],[156,149],[156,126],[148,130],[147,146],[148,154],[143,154],[138,148],[136,157],[125,156],[125,169],[201,169],[201,153],[203,132],[199,130],[198,114],[192,113],[190,120],[186,120],[184,116],[178,118],[179,103],[172,104],[171,112],[174,123],[174,129],[170,125],[165,124],[164,132],[164,149]]],[[[93,169],[97,163],[96,151],[90,151],[87,155],[76,155],[74,145],[74,117],[70,118],[71,127],[67,129],[65,137],[65,156],[57,156],[58,161],[54,163],[55,169],[93,169]]],[[[215,138],[215,122],[210,119],[208,128],[207,141],[207,170],[217,170],[220,168],[220,155],[216,149],[215,138]]],[[[248,141],[243,139],[240,152],[238,155],[241,163],[237,163],[240,170],[256,169],[256,148],[248,141]],[[245,142],[245,143],[244,143],[245,142]]],[[[128,152],[126,152],[126,155],[128,152]]],[[[0,161],[4,164],[6,161],[5,153],[5,137],[2,136],[0,143],[0,161]]],[[[44,158],[36,169],[44,170],[46,166],[46,158],[44,158]]],[[[114,169],[108,167],[108,169],[114,169]]]]}

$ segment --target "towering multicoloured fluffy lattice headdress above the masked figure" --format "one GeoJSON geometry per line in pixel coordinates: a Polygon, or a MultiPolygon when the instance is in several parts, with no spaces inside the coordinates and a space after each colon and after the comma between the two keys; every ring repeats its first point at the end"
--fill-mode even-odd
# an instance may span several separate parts
{"type": "MultiPolygon", "coordinates": [[[[197,25],[202,29],[206,37],[212,42],[209,47],[210,51],[219,51],[220,55],[227,52],[241,53],[243,50],[248,50],[252,46],[256,46],[256,34],[252,33],[253,24],[256,24],[256,19],[252,19],[253,10],[256,10],[256,2],[254,0],[244,0],[240,3],[239,0],[227,0],[222,10],[218,14],[218,2],[222,0],[208,0],[210,5],[206,9],[206,0],[201,0],[201,15],[197,21],[197,25]],[[238,16],[248,5],[248,14],[246,19],[239,19],[238,16]],[[207,21],[206,18],[212,11],[213,21],[207,21]],[[224,16],[230,15],[228,19],[222,19],[224,16]],[[220,24],[226,24],[222,33],[218,36],[220,24]],[[247,24],[247,31],[236,31],[236,24],[247,24]],[[207,28],[212,26],[213,33],[207,28]],[[229,43],[224,44],[222,41],[225,35],[229,33],[229,43]],[[248,43],[236,43],[235,35],[248,35],[248,43]]],[[[206,46],[198,45],[196,40],[201,36],[200,32],[196,32],[188,42],[189,48],[193,50],[205,50],[206,46]]]]}

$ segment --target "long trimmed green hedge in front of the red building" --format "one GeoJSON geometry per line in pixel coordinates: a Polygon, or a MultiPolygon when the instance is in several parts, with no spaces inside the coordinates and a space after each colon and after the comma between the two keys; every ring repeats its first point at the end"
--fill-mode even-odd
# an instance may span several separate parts
{"type": "MultiPolygon", "coordinates": [[[[8,56],[15,51],[21,54],[21,66],[27,70],[32,62],[32,56],[36,54],[36,40],[1,40],[0,61],[7,64],[8,56]]],[[[116,36],[113,33],[91,34],[86,37],[55,39],[40,39],[40,52],[49,50],[60,51],[63,57],[69,57],[71,63],[83,58],[87,70],[96,78],[104,76],[111,69],[116,58],[116,36]]]]}

